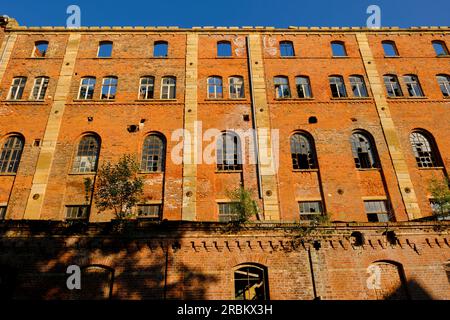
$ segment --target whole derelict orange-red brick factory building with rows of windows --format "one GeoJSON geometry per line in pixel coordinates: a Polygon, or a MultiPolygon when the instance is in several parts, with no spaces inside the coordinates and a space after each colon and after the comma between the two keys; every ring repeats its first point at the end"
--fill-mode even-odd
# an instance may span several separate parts
{"type": "Polygon", "coordinates": [[[450,165],[449,31],[3,20],[4,292],[67,297],[64,266],[79,264],[101,265],[109,289],[91,292],[115,298],[450,298],[448,222],[418,222],[450,165]],[[114,216],[84,188],[123,154],[145,181],[136,211],[168,221],[132,222],[127,245],[100,232],[114,216]],[[259,221],[222,232],[239,185],[259,221]],[[320,214],[331,222],[301,227],[320,214]],[[68,236],[74,218],[92,225],[68,236]]]}

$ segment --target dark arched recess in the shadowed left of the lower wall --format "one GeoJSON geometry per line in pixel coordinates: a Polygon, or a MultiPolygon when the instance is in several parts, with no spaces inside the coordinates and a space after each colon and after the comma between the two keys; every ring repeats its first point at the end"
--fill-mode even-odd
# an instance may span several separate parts
{"type": "Polygon", "coordinates": [[[81,268],[81,290],[72,290],[76,300],[108,300],[112,298],[114,269],[91,264],[81,268]]]}

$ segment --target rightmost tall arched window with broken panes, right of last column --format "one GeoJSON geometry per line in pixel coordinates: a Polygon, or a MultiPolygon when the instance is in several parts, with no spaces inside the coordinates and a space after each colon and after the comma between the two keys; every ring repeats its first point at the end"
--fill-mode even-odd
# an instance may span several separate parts
{"type": "Polygon", "coordinates": [[[410,135],[410,141],[419,168],[439,167],[438,150],[430,134],[414,131],[410,135]]]}

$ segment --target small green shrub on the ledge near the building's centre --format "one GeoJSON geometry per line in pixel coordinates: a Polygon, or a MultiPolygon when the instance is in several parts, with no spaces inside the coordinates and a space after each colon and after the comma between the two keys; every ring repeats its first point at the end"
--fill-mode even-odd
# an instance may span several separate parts
{"type": "Polygon", "coordinates": [[[237,217],[236,222],[245,223],[253,216],[259,218],[259,207],[253,200],[252,193],[252,190],[245,189],[243,186],[227,191],[227,196],[232,201],[231,212],[237,217]]]}

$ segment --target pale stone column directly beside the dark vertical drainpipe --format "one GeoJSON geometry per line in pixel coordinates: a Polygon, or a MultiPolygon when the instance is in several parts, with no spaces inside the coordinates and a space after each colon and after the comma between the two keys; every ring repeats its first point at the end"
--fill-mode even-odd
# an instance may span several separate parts
{"type": "MultiPolygon", "coordinates": [[[[253,103],[256,130],[258,133],[258,161],[260,163],[261,188],[265,220],[280,220],[276,164],[270,127],[269,105],[267,102],[266,78],[260,34],[251,34],[249,41],[249,64],[253,84],[253,103]]],[[[275,150],[278,149],[278,146],[275,150]]]]}

